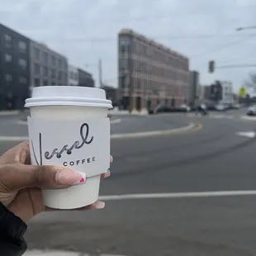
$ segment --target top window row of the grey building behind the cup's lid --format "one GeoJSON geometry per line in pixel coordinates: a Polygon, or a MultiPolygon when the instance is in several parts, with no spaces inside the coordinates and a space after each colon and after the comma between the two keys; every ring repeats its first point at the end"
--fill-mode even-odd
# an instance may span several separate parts
{"type": "Polygon", "coordinates": [[[44,64],[58,67],[59,69],[68,69],[67,63],[63,59],[57,59],[55,56],[49,55],[36,47],[33,48],[33,57],[38,61],[42,61],[44,64]]]}

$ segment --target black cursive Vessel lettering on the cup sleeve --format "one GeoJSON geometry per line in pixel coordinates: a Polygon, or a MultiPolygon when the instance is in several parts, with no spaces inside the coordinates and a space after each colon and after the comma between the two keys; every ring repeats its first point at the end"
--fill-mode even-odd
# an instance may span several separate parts
{"type": "Polygon", "coordinates": [[[62,155],[64,154],[64,152],[66,152],[66,154],[72,154],[73,149],[81,149],[81,148],[83,148],[84,145],[91,144],[92,141],[93,141],[93,138],[94,137],[92,136],[89,139],[88,123],[83,123],[83,125],[80,127],[80,139],[81,140],[74,141],[73,145],[71,145],[71,146],[64,145],[60,149],[55,148],[55,149],[50,150],[50,151],[45,151],[45,154],[43,154],[43,152],[42,152],[42,135],[40,133],[39,134],[40,161],[38,161],[38,159],[36,157],[36,151],[35,151],[35,148],[34,148],[34,145],[33,145],[33,141],[31,140],[31,146],[32,146],[34,157],[36,159],[36,164],[42,165],[43,156],[45,157],[45,159],[50,160],[55,156],[56,156],[56,158],[60,159],[62,157],[62,155]]]}

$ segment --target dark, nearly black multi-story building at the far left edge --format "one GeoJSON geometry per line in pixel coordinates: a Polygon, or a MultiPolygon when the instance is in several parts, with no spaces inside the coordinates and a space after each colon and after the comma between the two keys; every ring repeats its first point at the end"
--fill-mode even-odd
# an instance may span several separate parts
{"type": "Polygon", "coordinates": [[[29,41],[0,24],[0,110],[21,109],[30,95],[29,41]]]}

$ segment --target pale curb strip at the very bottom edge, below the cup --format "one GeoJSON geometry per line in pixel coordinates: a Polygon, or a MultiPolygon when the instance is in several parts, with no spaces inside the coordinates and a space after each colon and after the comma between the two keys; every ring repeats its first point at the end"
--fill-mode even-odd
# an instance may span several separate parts
{"type": "MultiPolygon", "coordinates": [[[[23,256],[92,256],[95,254],[59,251],[59,250],[29,250],[23,256]]],[[[125,256],[120,254],[97,254],[98,256],[125,256]]]]}

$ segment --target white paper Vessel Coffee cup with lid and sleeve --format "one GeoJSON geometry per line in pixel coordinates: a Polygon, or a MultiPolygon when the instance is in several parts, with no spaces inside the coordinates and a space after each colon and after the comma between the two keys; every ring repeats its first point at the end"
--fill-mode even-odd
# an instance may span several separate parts
{"type": "Polygon", "coordinates": [[[101,173],[107,172],[110,167],[110,123],[107,110],[112,106],[111,101],[106,99],[105,91],[68,86],[39,87],[34,88],[25,107],[31,110],[31,117],[28,117],[31,164],[62,165],[87,175],[86,183],[66,189],[43,190],[45,206],[75,209],[97,201],[101,173]],[[88,130],[83,130],[83,135],[80,130],[83,139],[78,135],[84,123],[90,127],[87,140],[93,139],[88,145],[83,143],[88,130]],[[59,154],[59,159],[58,154],[49,157],[50,153],[55,152],[53,149],[61,152],[64,145],[70,149],[74,141],[79,142],[79,146],[84,145],[74,148],[72,154],[64,150],[59,154]]]}

